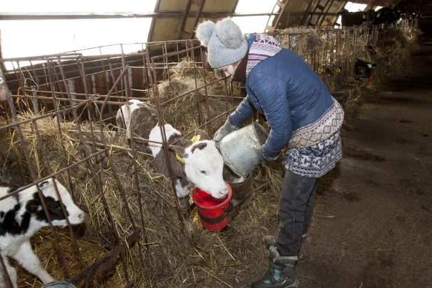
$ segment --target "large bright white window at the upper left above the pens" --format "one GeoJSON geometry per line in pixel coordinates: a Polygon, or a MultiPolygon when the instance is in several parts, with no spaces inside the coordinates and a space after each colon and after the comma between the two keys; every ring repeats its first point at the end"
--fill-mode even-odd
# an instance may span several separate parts
{"type": "MultiPolygon", "coordinates": [[[[156,0],[70,2],[58,0],[5,1],[3,13],[149,13],[156,0]]],[[[10,20],[0,21],[3,58],[57,54],[74,50],[112,45],[101,50],[84,50],[83,55],[122,52],[118,43],[147,41],[152,18],[92,19],[92,20],[10,20]]],[[[143,49],[142,45],[124,45],[125,53],[143,49]]],[[[34,62],[37,63],[37,62],[34,62]]],[[[16,67],[15,67],[16,68],[16,67]]],[[[6,69],[13,67],[6,63],[6,69]]]]}

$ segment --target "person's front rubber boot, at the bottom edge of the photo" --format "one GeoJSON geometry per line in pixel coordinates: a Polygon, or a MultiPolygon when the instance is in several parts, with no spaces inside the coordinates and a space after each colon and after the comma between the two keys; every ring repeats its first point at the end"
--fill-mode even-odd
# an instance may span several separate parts
{"type": "Polygon", "coordinates": [[[297,287],[298,281],[294,274],[296,256],[280,256],[275,246],[268,250],[268,271],[264,278],[252,283],[251,288],[286,288],[297,287]]]}

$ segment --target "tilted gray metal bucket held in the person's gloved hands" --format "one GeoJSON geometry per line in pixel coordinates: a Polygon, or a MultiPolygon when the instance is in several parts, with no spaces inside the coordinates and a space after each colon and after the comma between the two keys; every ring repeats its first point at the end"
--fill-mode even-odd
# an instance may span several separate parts
{"type": "Polygon", "coordinates": [[[261,146],[268,133],[258,122],[233,131],[219,142],[224,162],[240,177],[248,178],[261,160],[261,146]]]}

